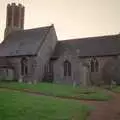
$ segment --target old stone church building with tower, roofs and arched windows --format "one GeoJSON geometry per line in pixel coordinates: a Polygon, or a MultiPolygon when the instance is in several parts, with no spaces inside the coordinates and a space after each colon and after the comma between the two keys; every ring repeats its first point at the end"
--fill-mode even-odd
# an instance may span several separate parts
{"type": "Polygon", "coordinates": [[[58,40],[54,25],[24,30],[23,5],[7,5],[0,44],[0,79],[89,85],[120,56],[120,35],[58,40]]]}

